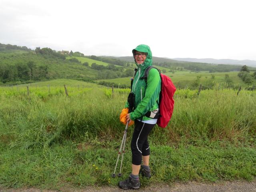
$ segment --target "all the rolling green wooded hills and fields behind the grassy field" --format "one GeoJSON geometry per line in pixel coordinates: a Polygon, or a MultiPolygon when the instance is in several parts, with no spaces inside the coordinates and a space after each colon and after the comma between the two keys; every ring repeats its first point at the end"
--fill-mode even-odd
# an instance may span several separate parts
{"type": "MultiPolygon", "coordinates": [[[[206,82],[208,87],[218,82],[228,82],[229,86],[246,85],[244,82],[255,84],[256,73],[251,72],[250,75],[238,78],[241,66],[237,65],[193,63],[157,57],[153,59],[153,64],[162,73],[172,77],[179,88],[196,88],[200,82],[206,82]]],[[[114,83],[114,86],[127,87],[135,67],[132,57],[84,56],[80,52],[65,55],[50,48],[30,50],[25,46],[0,44],[0,85],[75,79],[97,81],[105,86],[114,83]]]]}

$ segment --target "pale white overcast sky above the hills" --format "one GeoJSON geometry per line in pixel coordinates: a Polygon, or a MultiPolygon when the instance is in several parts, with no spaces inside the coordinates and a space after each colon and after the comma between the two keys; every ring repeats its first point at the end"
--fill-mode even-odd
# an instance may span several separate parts
{"type": "Polygon", "coordinates": [[[0,43],[132,56],[256,60],[255,0],[0,0],[0,43]]]}

